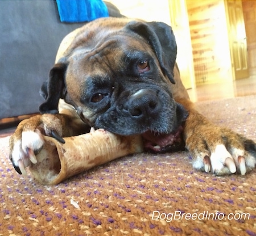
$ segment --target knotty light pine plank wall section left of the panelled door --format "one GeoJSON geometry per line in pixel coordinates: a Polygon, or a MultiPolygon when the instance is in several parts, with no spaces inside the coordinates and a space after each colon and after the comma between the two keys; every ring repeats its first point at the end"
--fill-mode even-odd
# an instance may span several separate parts
{"type": "Polygon", "coordinates": [[[224,0],[187,0],[196,84],[232,80],[224,0]]]}

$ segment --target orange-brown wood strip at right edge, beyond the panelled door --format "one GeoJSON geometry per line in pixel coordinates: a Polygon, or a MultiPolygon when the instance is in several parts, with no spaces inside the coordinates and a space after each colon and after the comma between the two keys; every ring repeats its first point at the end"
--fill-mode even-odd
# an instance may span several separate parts
{"type": "Polygon", "coordinates": [[[250,75],[256,75],[256,1],[242,1],[250,75]]]}

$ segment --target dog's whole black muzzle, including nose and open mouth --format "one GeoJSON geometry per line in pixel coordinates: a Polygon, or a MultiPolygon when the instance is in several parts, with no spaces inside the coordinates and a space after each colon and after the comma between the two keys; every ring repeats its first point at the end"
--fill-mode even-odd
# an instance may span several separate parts
{"type": "Polygon", "coordinates": [[[184,149],[183,124],[188,113],[161,90],[142,88],[98,116],[94,128],[123,136],[141,134],[144,149],[152,152],[184,149]],[[168,100],[169,99],[169,100],[168,100]]]}

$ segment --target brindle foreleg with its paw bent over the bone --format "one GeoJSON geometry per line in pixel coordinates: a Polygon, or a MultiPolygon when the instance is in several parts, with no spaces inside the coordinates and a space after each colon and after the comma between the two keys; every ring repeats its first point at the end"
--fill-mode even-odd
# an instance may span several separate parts
{"type": "Polygon", "coordinates": [[[35,155],[44,145],[43,135],[64,142],[62,137],[89,132],[90,127],[80,120],[74,109],[61,109],[59,114],[43,114],[23,120],[10,137],[10,159],[19,174],[36,163],[35,155]]]}

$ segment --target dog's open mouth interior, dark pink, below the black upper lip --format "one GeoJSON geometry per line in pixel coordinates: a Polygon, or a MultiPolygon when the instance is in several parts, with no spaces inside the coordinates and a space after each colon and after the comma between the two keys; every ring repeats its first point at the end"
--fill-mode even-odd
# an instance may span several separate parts
{"type": "Polygon", "coordinates": [[[149,130],[142,134],[144,149],[154,153],[184,150],[185,144],[181,137],[182,131],[182,126],[177,129],[176,133],[170,134],[159,134],[149,130]]]}

